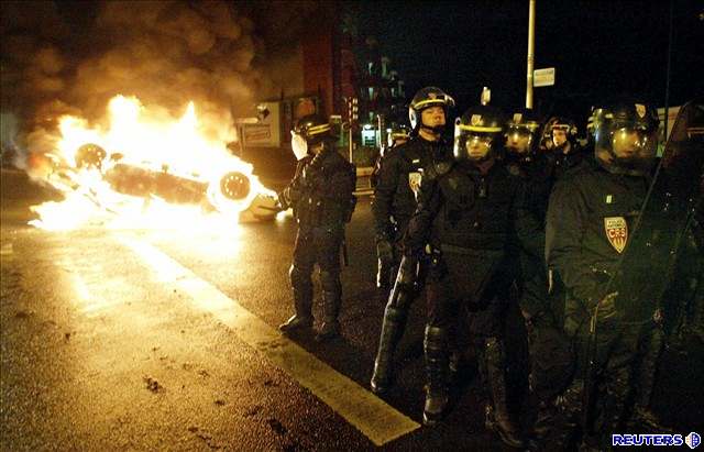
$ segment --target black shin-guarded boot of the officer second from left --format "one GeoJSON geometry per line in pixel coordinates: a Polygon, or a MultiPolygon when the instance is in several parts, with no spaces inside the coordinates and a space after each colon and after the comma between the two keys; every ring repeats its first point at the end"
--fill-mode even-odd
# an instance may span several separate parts
{"type": "Polygon", "coordinates": [[[392,385],[394,353],[406,328],[406,315],[407,312],[403,308],[386,306],[378,350],[374,361],[374,373],[370,382],[374,394],[385,393],[392,385]]]}

